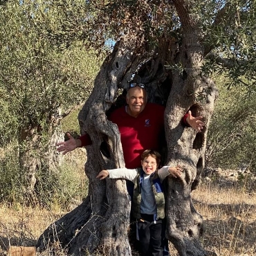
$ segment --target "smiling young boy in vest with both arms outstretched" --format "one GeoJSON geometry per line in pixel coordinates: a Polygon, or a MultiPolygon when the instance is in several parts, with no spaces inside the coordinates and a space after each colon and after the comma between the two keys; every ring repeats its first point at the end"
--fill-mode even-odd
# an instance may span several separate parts
{"type": "Polygon", "coordinates": [[[164,166],[158,170],[161,155],[151,149],[141,155],[142,168],[102,170],[97,178],[127,179],[134,183],[131,212],[137,219],[137,237],[143,256],[163,256],[161,233],[165,218],[162,182],[166,176],[181,177],[181,168],[164,166]]]}

